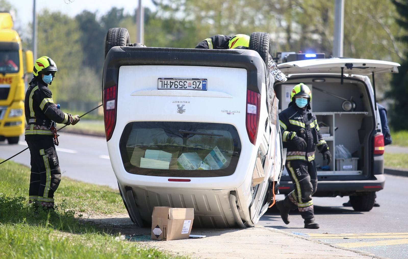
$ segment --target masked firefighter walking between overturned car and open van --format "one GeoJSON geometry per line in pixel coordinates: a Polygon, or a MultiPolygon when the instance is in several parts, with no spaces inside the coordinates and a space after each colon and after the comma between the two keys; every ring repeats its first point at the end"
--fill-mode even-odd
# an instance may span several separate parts
{"type": "Polygon", "coordinates": [[[294,190],[285,199],[276,202],[285,224],[289,224],[290,210],[299,210],[304,228],[319,228],[313,213],[312,195],[317,188],[315,147],[331,162],[329,148],[319,131],[316,116],[311,113],[312,93],[306,84],[297,84],[290,93],[289,106],[279,113],[283,147],[286,152],[286,170],[294,190]]]}

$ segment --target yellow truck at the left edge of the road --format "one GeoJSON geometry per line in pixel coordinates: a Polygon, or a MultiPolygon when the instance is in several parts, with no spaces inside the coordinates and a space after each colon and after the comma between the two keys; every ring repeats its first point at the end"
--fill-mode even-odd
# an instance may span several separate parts
{"type": "MultiPolygon", "coordinates": [[[[21,39],[9,13],[0,13],[0,141],[17,144],[24,132],[24,67],[21,39]]],[[[25,51],[26,72],[33,72],[33,53],[25,51]]]]}

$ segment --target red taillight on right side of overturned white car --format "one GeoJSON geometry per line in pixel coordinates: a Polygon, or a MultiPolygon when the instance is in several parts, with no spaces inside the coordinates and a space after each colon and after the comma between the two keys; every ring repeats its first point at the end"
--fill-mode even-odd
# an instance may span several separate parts
{"type": "Polygon", "coordinates": [[[246,131],[249,141],[255,145],[259,124],[259,100],[261,95],[251,90],[246,90],[246,131]]]}

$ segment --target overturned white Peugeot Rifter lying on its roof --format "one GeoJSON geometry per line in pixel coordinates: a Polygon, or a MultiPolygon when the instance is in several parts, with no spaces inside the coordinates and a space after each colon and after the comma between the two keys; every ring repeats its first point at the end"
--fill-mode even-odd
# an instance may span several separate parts
{"type": "Polygon", "coordinates": [[[254,226],[265,213],[284,161],[268,43],[148,48],[129,44],[126,29],[109,30],[106,140],[133,222],[151,224],[155,206],[194,208],[197,227],[254,226]]]}

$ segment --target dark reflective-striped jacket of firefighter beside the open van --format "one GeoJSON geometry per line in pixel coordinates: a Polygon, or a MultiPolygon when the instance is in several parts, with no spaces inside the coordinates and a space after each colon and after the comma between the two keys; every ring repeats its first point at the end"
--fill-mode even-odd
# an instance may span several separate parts
{"type": "Polygon", "coordinates": [[[282,132],[283,147],[287,148],[286,161],[315,159],[315,147],[320,153],[328,150],[326,141],[317,125],[316,116],[308,111],[308,108],[302,109],[296,104],[289,104],[289,107],[279,113],[279,126],[282,132]],[[295,136],[301,137],[306,141],[304,150],[297,150],[295,144],[291,141],[295,136]]]}

